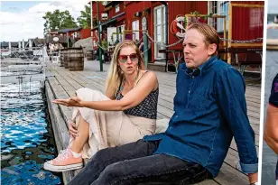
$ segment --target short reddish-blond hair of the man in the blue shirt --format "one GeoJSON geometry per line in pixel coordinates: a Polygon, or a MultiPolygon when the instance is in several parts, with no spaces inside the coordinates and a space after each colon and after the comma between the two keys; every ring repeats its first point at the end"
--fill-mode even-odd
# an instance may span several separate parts
{"type": "Polygon", "coordinates": [[[205,43],[207,46],[211,43],[215,43],[217,45],[217,50],[212,55],[218,54],[220,40],[218,32],[212,26],[207,23],[191,23],[187,30],[191,29],[195,29],[205,36],[205,43]]]}

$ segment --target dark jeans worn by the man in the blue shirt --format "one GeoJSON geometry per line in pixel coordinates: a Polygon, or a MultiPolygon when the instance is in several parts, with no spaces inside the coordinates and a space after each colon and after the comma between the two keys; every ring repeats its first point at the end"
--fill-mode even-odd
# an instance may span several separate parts
{"type": "Polygon", "coordinates": [[[198,163],[153,154],[158,145],[139,140],[101,150],[69,185],[193,184],[212,177],[198,163]]]}

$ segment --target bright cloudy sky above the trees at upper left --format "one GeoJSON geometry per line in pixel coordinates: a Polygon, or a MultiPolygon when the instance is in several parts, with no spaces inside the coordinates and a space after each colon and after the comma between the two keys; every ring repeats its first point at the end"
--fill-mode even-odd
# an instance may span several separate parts
{"type": "Polygon", "coordinates": [[[88,0],[71,1],[2,1],[0,0],[0,41],[19,42],[43,38],[42,16],[56,9],[68,10],[75,18],[88,5],[88,0]]]}

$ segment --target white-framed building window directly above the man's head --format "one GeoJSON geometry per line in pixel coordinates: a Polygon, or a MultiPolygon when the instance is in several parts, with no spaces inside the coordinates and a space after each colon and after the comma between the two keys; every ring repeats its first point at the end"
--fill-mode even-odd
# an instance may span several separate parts
{"type": "MultiPolygon", "coordinates": [[[[228,28],[228,1],[209,1],[209,14],[226,15],[226,29],[228,28]]],[[[209,18],[209,24],[218,32],[224,32],[223,18],[209,18]]]]}

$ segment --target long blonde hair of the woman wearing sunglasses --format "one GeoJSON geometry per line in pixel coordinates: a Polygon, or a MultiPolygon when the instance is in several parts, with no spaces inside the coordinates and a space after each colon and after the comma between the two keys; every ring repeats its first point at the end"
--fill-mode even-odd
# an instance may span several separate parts
{"type": "Polygon", "coordinates": [[[124,78],[124,73],[118,66],[118,56],[122,48],[130,46],[134,48],[138,56],[138,69],[144,69],[144,61],[139,51],[138,47],[133,41],[125,40],[123,42],[119,42],[116,44],[115,50],[113,52],[112,60],[110,63],[108,77],[107,77],[107,84],[106,84],[106,94],[110,96],[116,97],[116,91],[119,88],[122,79],[124,78]]]}

